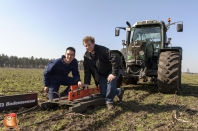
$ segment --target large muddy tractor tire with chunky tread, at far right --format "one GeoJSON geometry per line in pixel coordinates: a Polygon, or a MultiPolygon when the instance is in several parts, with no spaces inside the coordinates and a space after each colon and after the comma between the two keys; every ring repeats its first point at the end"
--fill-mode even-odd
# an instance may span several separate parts
{"type": "Polygon", "coordinates": [[[160,54],[158,63],[158,90],[161,93],[178,93],[181,86],[181,58],[177,51],[160,54]]]}

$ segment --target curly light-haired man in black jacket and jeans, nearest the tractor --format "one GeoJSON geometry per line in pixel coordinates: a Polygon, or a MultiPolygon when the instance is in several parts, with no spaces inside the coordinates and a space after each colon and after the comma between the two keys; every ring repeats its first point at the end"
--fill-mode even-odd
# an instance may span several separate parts
{"type": "Polygon", "coordinates": [[[105,98],[109,110],[113,106],[113,99],[117,95],[122,101],[124,90],[116,88],[117,79],[120,76],[120,59],[108,48],[95,44],[95,39],[86,36],[83,39],[86,48],[84,55],[84,84],[90,84],[91,75],[96,86],[100,86],[100,95],[105,98]]]}

